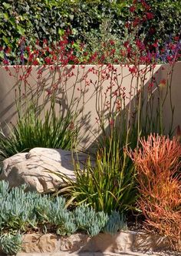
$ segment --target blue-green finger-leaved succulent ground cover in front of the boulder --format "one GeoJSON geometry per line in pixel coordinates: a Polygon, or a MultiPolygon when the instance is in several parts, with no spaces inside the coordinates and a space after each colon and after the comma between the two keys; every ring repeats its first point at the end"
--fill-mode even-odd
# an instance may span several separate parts
{"type": "Polygon", "coordinates": [[[10,190],[3,180],[0,182],[0,204],[0,246],[6,254],[18,252],[21,235],[29,232],[70,235],[82,231],[94,236],[100,231],[116,234],[127,228],[125,217],[116,211],[108,215],[84,204],[70,211],[63,197],[25,193],[25,186],[10,190]]]}

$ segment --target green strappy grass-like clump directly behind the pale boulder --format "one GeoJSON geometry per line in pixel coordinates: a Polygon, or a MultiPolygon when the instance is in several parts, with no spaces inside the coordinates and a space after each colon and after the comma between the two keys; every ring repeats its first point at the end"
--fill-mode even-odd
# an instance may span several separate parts
{"type": "Polygon", "coordinates": [[[71,112],[55,116],[47,111],[44,119],[34,109],[18,118],[16,125],[9,128],[9,135],[0,133],[0,160],[15,153],[28,152],[34,147],[71,149],[71,141],[77,140],[77,129],[73,126],[74,116],[71,112]]]}

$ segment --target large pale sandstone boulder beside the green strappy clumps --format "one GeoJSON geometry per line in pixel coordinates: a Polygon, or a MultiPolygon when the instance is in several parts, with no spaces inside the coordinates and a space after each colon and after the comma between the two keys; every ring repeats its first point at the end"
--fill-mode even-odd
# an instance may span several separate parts
{"type": "MultiPolygon", "coordinates": [[[[87,155],[77,153],[74,159],[84,163],[87,155]]],[[[81,164],[81,168],[82,168],[81,164]]],[[[55,190],[64,180],[52,173],[58,172],[75,179],[71,151],[61,149],[34,148],[29,153],[17,153],[2,162],[0,180],[6,180],[10,187],[27,184],[27,190],[40,193],[55,190]]]]}

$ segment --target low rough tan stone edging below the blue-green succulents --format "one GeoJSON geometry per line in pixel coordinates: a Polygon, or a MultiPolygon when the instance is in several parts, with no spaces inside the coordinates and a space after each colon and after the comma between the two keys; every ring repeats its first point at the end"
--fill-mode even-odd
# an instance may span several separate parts
{"type": "MultiPolygon", "coordinates": [[[[168,255],[163,239],[145,232],[120,231],[115,235],[72,234],[70,237],[57,234],[25,234],[21,252],[17,256],[102,256],[102,255],[168,255]],[[158,240],[160,246],[158,246],[158,240]],[[151,241],[151,243],[150,243],[151,241]],[[144,244],[144,246],[142,246],[144,244]],[[162,247],[163,250],[160,250],[162,247]],[[154,253],[153,253],[154,251],[154,253]],[[163,252],[162,252],[163,251],[163,252]]],[[[180,255],[170,253],[170,255],[180,255]]]]}

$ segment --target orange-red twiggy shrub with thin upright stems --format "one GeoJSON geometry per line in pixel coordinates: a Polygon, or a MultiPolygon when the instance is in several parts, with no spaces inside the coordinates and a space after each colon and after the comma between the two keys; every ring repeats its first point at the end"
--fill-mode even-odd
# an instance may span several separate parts
{"type": "Polygon", "coordinates": [[[138,207],[146,228],[181,249],[181,146],[178,138],[151,134],[130,151],[136,170],[140,198],[138,207]]]}

